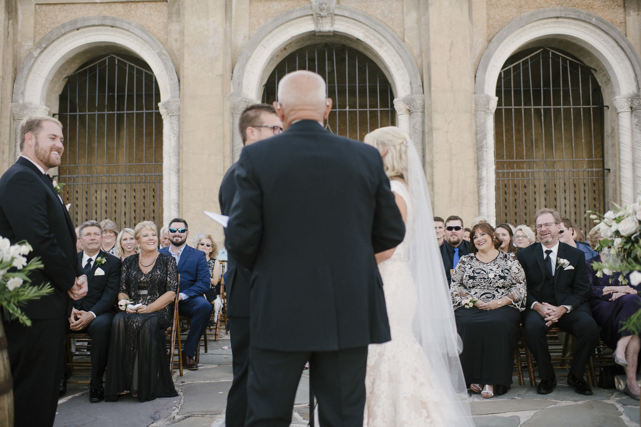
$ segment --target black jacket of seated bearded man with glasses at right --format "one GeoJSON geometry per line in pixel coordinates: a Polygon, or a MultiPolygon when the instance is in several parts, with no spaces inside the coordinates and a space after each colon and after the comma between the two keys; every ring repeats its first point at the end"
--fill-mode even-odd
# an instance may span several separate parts
{"type": "MultiPolygon", "coordinates": [[[[519,260],[525,271],[528,287],[528,308],[535,302],[547,302],[540,300],[541,287],[545,280],[545,261],[541,243],[535,243],[519,250],[517,252],[517,260],[519,260]]],[[[573,305],[574,310],[589,311],[588,305],[585,304],[590,293],[585,254],[580,249],[572,248],[572,246],[560,242],[556,260],[553,279],[556,303],[558,305],[573,305]],[[559,258],[567,259],[574,269],[565,270],[562,266],[559,266],[559,258]]]]}

